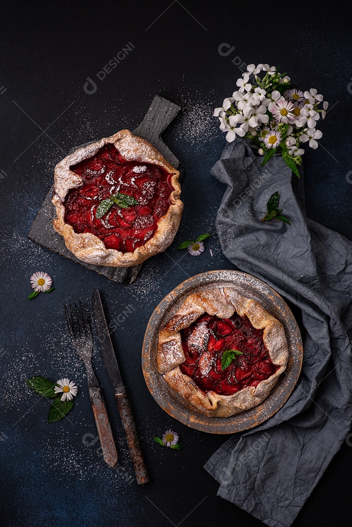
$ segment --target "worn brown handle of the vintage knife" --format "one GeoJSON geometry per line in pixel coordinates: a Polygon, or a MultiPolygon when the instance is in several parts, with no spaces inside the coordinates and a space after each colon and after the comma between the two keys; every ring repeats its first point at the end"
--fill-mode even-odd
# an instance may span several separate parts
{"type": "Polygon", "coordinates": [[[142,485],[143,483],[148,483],[149,476],[144,464],[141,445],[137,436],[137,431],[129,400],[126,394],[115,395],[115,398],[116,404],[119,408],[123,430],[126,435],[126,440],[134,467],[136,481],[139,485],[142,485]]]}

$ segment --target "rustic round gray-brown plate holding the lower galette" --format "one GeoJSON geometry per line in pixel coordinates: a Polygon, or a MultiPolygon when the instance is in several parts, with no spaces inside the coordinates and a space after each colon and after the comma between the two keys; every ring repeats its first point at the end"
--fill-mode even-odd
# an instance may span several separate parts
{"type": "Polygon", "coordinates": [[[155,401],[172,417],[191,428],[212,434],[232,434],[259,425],[275,414],[287,401],[294,389],[302,365],[302,339],[297,322],[286,302],[254,276],[240,271],[208,271],[185,280],[173,289],[153,311],[146,327],[142,369],[146,385],[155,401]],[[260,405],[231,417],[207,417],[188,404],[165,382],[157,369],[159,329],[174,315],[185,297],[196,291],[218,287],[232,287],[248,298],[257,300],[265,309],[280,320],[287,338],[289,361],[273,387],[270,395],[260,405]]]}

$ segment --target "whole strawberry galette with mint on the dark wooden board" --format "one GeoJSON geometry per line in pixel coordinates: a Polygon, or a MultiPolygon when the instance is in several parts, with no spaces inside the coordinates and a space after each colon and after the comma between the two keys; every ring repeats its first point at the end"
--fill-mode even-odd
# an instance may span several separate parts
{"type": "Polygon", "coordinates": [[[121,130],[56,165],[54,228],[80,260],[141,264],[174,239],[183,209],[178,178],[148,141],[121,130]]]}

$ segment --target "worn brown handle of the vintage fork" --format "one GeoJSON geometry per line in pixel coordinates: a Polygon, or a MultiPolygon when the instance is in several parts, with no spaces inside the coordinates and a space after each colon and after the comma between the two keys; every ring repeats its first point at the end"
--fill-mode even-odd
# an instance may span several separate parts
{"type": "Polygon", "coordinates": [[[115,466],[118,462],[114,437],[112,435],[109,417],[107,416],[104,399],[99,387],[89,388],[95,424],[99,434],[104,461],[109,466],[115,466]]]}

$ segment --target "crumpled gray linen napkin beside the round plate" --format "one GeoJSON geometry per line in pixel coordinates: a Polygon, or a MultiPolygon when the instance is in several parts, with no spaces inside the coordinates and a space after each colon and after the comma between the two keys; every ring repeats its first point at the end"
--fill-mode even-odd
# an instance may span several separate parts
{"type": "Polygon", "coordinates": [[[218,495],[271,527],[288,527],[351,426],[352,243],[305,217],[302,193],[292,189],[299,180],[282,158],[263,169],[261,161],[238,139],[211,169],[228,185],[217,233],[234,265],[301,309],[304,360],[279,412],[232,436],[204,468],[220,483],[218,495]],[[291,226],[260,221],[275,191],[291,226]]]}

